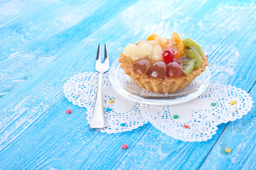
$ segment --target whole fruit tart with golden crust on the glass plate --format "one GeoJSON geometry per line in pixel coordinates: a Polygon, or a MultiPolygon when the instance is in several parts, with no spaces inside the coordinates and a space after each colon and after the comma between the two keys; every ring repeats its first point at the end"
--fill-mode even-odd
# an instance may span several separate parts
{"type": "Polygon", "coordinates": [[[208,57],[191,38],[178,33],[170,39],[151,34],[128,44],[119,55],[120,67],[136,84],[148,91],[169,93],[183,89],[206,70],[208,57]]]}

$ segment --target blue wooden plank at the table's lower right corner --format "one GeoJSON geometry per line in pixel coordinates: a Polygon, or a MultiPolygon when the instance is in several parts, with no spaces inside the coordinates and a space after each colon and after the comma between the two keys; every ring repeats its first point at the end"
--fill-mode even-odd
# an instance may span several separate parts
{"type": "MultiPolygon", "coordinates": [[[[250,91],[250,96],[256,98],[256,86],[250,91]]],[[[203,162],[201,169],[255,169],[255,138],[256,138],[256,107],[242,119],[230,122],[214,145],[210,154],[203,162]],[[232,151],[225,152],[225,148],[232,151]],[[213,161],[214,160],[214,161],[213,161]]]]}

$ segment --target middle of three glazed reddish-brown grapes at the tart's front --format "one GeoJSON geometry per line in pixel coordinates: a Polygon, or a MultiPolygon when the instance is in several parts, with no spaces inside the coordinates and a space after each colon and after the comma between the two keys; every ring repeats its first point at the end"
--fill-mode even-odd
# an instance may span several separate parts
{"type": "Polygon", "coordinates": [[[164,79],[166,77],[166,64],[164,62],[156,62],[149,67],[149,71],[146,74],[150,77],[164,79]]]}

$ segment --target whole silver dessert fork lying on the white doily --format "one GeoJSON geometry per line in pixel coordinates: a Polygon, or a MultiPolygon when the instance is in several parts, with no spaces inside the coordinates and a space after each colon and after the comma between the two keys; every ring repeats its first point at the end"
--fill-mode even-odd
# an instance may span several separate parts
{"type": "Polygon", "coordinates": [[[109,57],[107,54],[107,45],[105,44],[105,57],[104,62],[100,62],[100,44],[97,50],[97,57],[95,62],[95,69],[99,72],[99,79],[97,84],[97,94],[95,100],[95,107],[92,111],[90,119],[90,128],[92,129],[104,129],[106,126],[104,113],[103,113],[103,96],[102,96],[102,77],[105,72],[110,69],[109,57]]]}

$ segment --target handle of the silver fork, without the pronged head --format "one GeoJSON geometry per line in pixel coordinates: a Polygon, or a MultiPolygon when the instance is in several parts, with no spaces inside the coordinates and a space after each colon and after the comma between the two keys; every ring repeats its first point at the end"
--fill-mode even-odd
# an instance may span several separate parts
{"type": "Polygon", "coordinates": [[[89,124],[92,129],[104,129],[106,126],[103,113],[102,77],[103,74],[99,73],[95,107],[93,108],[89,124]]]}

